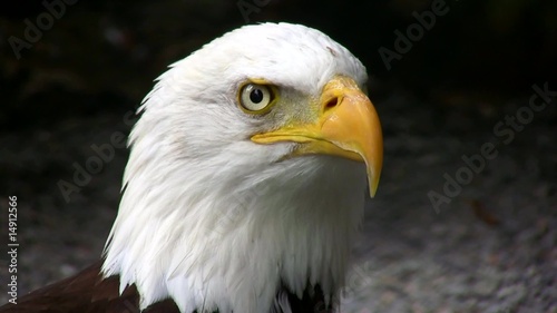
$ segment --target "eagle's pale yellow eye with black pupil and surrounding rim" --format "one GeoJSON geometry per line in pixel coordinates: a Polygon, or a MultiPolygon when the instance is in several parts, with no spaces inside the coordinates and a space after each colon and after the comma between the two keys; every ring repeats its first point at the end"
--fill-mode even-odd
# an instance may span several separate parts
{"type": "Polygon", "coordinates": [[[274,90],[270,85],[247,82],[240,88],[238,101],[250,114],[264,114],[274,102],[274,90]]]}

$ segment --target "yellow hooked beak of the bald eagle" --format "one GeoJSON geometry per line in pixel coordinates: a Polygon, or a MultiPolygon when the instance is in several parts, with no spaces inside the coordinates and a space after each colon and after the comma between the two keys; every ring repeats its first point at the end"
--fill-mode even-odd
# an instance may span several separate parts
{"type": "Polygon", "coordinates": [[[319,106],[311,109],[319,110],[316,120],[256,134],[252,141],[293,141],[300,144],[294,155],[325,154],[364,162],[373,197],[383,164],[383,138],[370,99],[353,79],[338,76],[325,85],[319,106]]]}

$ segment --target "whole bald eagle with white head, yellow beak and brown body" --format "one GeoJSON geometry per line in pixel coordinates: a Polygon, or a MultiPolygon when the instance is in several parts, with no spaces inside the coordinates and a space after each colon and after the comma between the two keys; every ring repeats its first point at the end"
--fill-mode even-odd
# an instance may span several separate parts
{"type": "Polygon", "coordinates": [[[382,166],[365,82],[291,23],[175,62],[138,110],[101,261],[0,312],[334,312],[382,166]]]}

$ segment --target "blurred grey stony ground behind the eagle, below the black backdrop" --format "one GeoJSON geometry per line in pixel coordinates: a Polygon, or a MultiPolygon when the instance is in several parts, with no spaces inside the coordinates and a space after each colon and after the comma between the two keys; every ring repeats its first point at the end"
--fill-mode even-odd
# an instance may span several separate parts
{"type": "MultiPolygon", "coordinates": [[[[555,108],[536,114],[505,144],[492,126],[527,98],[505,111],[447,109],[402,91],[379,92],[373,100],[385,164],[341,312],[557,312],[555,108]],[[495,144],[497,156],[470,172],[460,192],[446,194],[443,175],[458,179],[467,166],[462,156],[481,154],[486,143],[495,144]],[[450,203],[433,205],[431,192],[450,203]]],[[[84,116],[0,137],[1,147],[10,147],[0,155],[2,190],[10,190],[2,197],[18,196],[20,294],[98,260],[116,215],[126,150],[116,148],[68,203],[58,184],[74,182],[75,164],[96,155],[91,145],[129,130],[124,116],[84,116]]],[[[7,202],[1,206],[6,213],[7,202]]],[[[3,257],[0,273],[4,284],[3,257]]],[[[2,292],[0,302],[7,299],[2,292]]]]}

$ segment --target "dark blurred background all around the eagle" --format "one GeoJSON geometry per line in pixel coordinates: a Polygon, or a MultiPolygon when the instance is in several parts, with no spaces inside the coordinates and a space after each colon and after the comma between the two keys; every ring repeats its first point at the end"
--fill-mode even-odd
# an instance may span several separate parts
{"type": "MultiPolygon", "coordinates": [[[[1,227],[4,242],[7,198],[17,195],[21,293],[101,253],[127,150],[115,148],[78,186],[76,168],[97,156],[91,145],[129,133],[129,113],[169,63],[263,21],[304,23],[349,48],[368,68],[382,119],[382,184],[342,312],[557,312],[551,0],[4,3],[1,227]],[[536,104],[547,104],[529,110],[539,89],[546,95],[536,104]],[[514,116],[519,127],[506,119],[514,116]],[[500,123],[508,136],[494,130],[500,123]],[[447,175],[456,177],[462,157],[486,143],[497,157],[447,197],[447,175]],[[447,198],[436,205],[431,192],[447,198]]],[[[2,292],[0,302],[7,299],[2,292]]]]}

